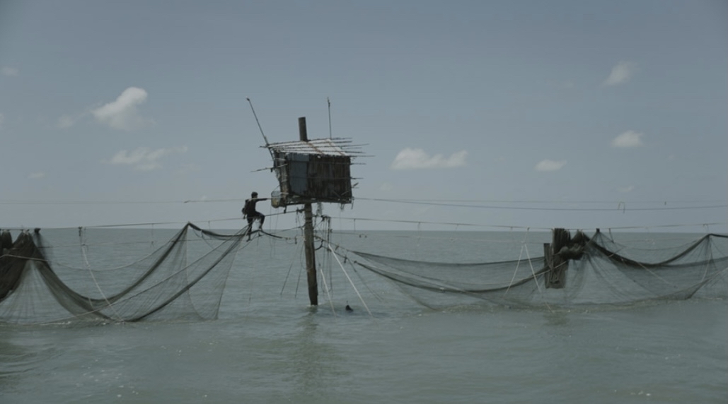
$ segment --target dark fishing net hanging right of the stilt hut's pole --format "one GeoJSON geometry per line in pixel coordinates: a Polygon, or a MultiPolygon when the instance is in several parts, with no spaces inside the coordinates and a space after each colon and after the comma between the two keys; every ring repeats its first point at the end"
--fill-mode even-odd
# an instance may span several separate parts
{"type": "Polygon", "coordinates": [[[633,304],[660,299],[728,297],[728,237],[709,234],[687,245],[632,249],[596,232],[547,255],[458,264],[397,259],[361,251],[356,264],[392,280],[427,307],[473,301],[510,307],[633,304]],[[554,262],[561,262],[554,266],[554,262]],[[558,285],[555,273],[561,272],[558,285]]]}

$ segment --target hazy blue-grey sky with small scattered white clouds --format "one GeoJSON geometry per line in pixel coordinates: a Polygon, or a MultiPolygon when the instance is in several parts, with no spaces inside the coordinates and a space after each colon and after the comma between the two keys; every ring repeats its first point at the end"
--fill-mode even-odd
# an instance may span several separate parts
{"type": "Polygon", "coordinates": [[[724,0],[0,0],[0,228],[242,227],[247,98],[361,145],[334,229],[728,231],[724,0]]]}

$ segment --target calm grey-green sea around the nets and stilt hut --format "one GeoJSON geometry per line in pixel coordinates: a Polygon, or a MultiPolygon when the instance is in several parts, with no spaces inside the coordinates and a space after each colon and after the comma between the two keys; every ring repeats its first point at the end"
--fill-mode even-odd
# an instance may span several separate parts
{"type": "MultiPolygon", "coordinates": [[[[55,231],[79,243],[78,230],[55,231]]],[[[121,248],[174,232],[93,236],[121,248]]],[[[550,235],[333,230],[327,238],[339,251],[485,262],[540,256],[550,235]]],[[[320,243],[312,307],[301,240],[290,230],[246,242],[215,320],[0,324],[0,403],[728,403],[724,299],[432,309],[347,258],[327,258],[320,243]]]]}

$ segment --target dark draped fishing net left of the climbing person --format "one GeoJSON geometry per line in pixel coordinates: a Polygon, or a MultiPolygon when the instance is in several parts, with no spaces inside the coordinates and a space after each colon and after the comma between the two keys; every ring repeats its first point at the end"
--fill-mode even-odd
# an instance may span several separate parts
{"type": "Polygon", "coordinates": [[[130,261],[132,248],[110,241],[90,249],[83,230],[76,254],[51,246],[39,230],[20,233],[15,242],[6,231],[0,323],[214,319],[247,230],[222,235],[189,223],[122,267],[111,265],[130,261]]]}

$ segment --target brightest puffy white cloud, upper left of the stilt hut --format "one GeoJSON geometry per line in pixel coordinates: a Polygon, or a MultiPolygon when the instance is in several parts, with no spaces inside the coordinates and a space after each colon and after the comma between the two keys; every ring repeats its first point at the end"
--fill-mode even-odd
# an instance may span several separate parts
{"type": "Polygon", "coordinates": [[[149,124],[151,120],[139,115],[137,106],[146,101],[146,91],[138,87],[129,87],[115,101],[109,102],[91,113],[96,121],[111,126],[113,129],[130,131],[149,124]]]}

